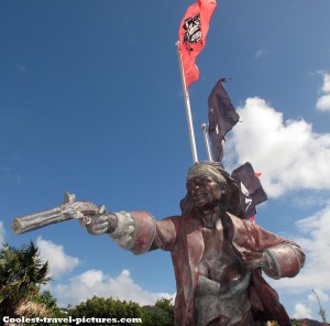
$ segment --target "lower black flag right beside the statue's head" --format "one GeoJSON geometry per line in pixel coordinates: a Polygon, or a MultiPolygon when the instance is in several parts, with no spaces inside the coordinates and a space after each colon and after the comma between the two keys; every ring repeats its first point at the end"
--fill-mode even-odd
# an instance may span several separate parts
{"type": "Polygon", "coordinates": [[[235,180],[241,189],[241,206],[245,214],[245,218],[255,215],[255,206],[267,200],[265,193],[258,177],[255,176],[251,163],[246,162],[231,173],[231,177],[235,180]]]}

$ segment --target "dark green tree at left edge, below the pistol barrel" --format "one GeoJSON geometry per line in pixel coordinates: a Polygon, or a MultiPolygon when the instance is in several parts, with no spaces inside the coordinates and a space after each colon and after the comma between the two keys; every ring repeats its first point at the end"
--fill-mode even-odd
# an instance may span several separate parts
{"type": "Polygon", "coordinates": [[[48,263],[41,261],[33,242],[20,249],[4,244],[0,250],[0,315],[14,317],[22,306],[35,311],[35,305],[28,303],[50,280],[48,263]]]}

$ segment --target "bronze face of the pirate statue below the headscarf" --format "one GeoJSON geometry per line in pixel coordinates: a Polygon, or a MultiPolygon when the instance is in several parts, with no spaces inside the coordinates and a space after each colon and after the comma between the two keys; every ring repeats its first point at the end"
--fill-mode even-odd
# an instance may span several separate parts
{"type": "Polygon", "coordinates": [[[197,175],[187,182],[187,191],[193,199],[193,204],[198,209],[215,207],[222,195],[222,192],[210,176],[197,175]]]}

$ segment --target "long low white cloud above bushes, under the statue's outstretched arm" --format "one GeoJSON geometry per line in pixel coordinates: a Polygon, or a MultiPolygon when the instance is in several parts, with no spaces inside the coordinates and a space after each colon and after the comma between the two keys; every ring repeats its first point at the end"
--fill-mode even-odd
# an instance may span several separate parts
{"type": "Polygon", "coordinates": [[[142,289],[134,282],[128,270],[123,270],[118,276],[111,278],[100,270],[88,270],[69,280],[68,284],[52,286],[52,294],[58,304],[66,306],[68,303],[78,304],[91,298],[94,295],[100,297],[119,298],[121,301],[133,301],[141,305],[154,304],[158,298],[172,298],[174,294],[153,293],[142,289]]]}

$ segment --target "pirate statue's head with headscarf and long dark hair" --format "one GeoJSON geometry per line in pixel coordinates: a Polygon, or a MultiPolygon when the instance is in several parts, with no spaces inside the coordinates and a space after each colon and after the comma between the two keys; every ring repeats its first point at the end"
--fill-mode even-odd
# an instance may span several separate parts
{"type": "Polygon", "coordinates": [[[188,171],[187,195],[180,203],[183,214],[193,207],[207,208],[219,205],[243,218],[240,205],[240,191],[233,178],[219,162],[198,162],[188,171]]]}

